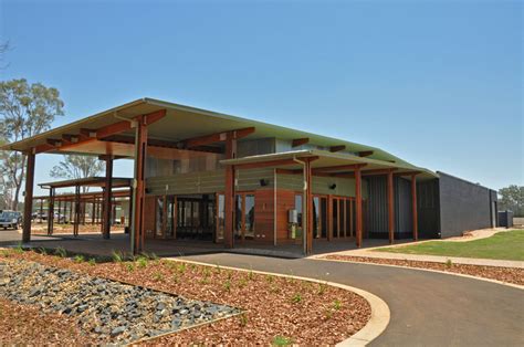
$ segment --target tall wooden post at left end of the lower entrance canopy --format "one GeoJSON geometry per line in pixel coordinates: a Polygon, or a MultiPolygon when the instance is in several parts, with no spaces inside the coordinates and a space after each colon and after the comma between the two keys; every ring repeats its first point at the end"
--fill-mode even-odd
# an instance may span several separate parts
{"type": "MultiPolygon", "coordinates": [[[[237,139],[232,133],[228,133],[226,139],[226,158],[233,159],[237,157],[237,139]]],[[[234,246],[234,167],[228,165],[226,167],[226,191],[224,191],[224,231],[223,243],[226,248],[234,246]]]]}

